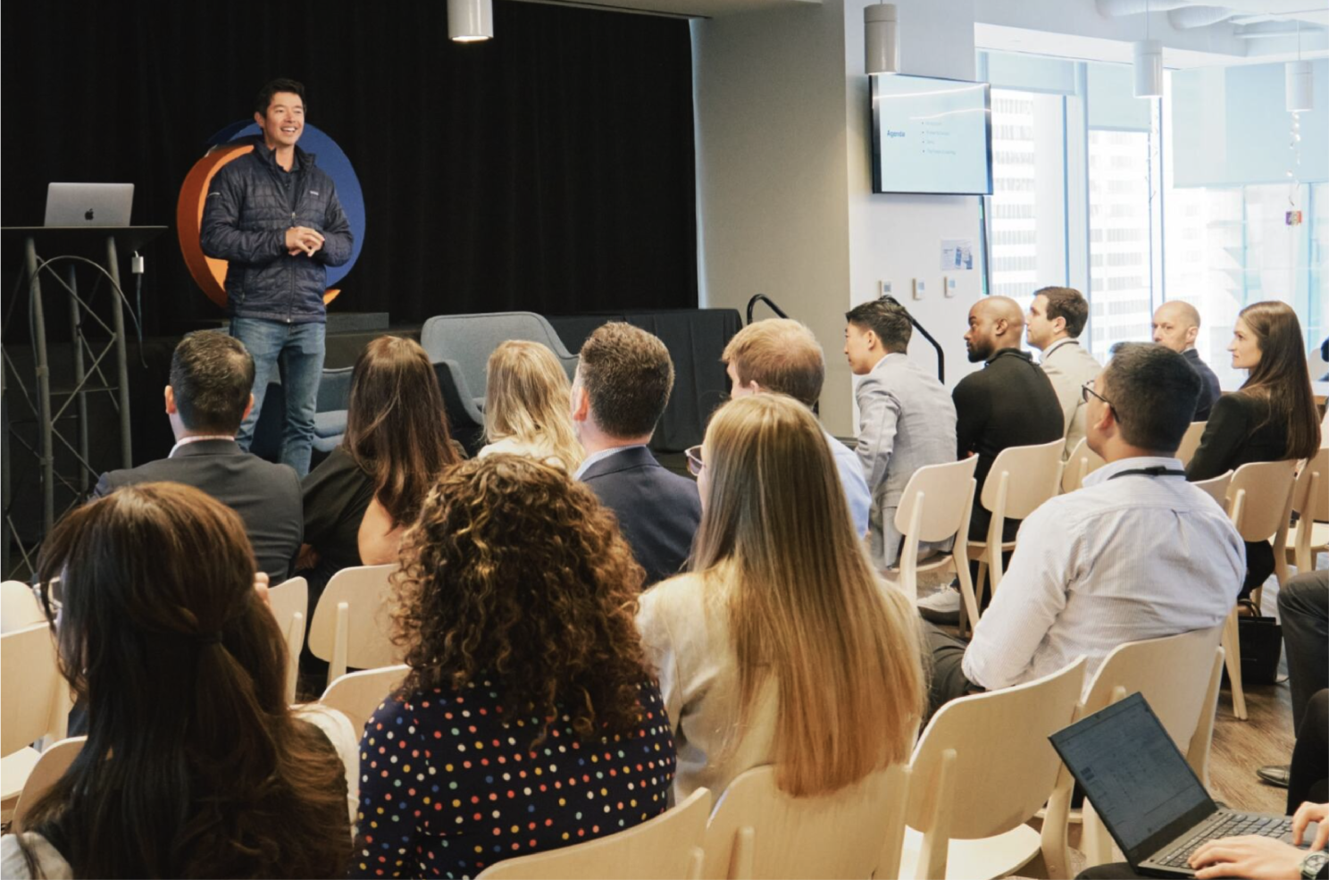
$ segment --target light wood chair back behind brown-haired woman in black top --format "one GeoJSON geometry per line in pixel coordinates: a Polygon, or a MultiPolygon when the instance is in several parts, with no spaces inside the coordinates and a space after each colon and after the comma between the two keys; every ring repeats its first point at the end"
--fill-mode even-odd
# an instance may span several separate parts
{"type": "Polygon", "coordinates": [[[346,675],[348,666],[380,669],[397,662],[388,585],[396,568],[342,569],[323,589],[310,622],[310,653],[328,661],[328,685],[346,675]]]}

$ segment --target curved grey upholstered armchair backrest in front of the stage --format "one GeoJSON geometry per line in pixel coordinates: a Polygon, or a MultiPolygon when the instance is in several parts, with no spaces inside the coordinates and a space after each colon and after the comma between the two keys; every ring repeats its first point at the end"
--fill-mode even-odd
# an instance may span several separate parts
{"type": "Polygon", "coordinates": [[[567,351],[544,315],[532,311],[496,311],[477,315],[437,315],[420,328],[420,344],[429,360],[456,360],[470,393],[485,396],[485,370],[493,350],[509,339],[528,339],[549,346],[562,362],[567,378],[577,370],[577,355],[567,351]]]}

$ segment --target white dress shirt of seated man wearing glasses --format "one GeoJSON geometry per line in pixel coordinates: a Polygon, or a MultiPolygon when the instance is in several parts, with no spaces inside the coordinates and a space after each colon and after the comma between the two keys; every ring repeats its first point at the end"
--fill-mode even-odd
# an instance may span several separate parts
{"type": "Polygon", "coordinates": [[[1236,604],[1245,548],[1176,459],[1123,459],[1019,526],[1010,570],[978,619],[964,671],[987,690],[1054,673],[1080,654],[1092,674],[1126,642],[1217,626],[1236,604]]]}

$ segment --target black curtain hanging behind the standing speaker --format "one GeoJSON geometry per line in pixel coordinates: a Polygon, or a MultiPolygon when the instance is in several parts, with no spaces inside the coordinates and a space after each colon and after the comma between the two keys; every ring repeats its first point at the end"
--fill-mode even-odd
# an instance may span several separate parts
{"type": "Polygon", "coordinates": [[[51,181],[133,182],[134,223],[171,226],[146,253],[146,332],[217,318],[175,242],[179,185],[288,76],[364,190],[335,311],[695,307],[687,23],[496,0],[494,33],[451,43],[443,0],[5,3],[0,221],[40,225],[51,181]]]}

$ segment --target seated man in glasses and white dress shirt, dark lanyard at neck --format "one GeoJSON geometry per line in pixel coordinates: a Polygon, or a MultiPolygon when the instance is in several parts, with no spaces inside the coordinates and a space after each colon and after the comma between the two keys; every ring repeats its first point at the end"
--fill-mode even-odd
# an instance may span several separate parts
{"type": "Polygon", "coordinates": [[[1241,540],[1174,456],[1200,378],[1163,346],[1127,343],[1084,385],[1088,447],[1107,463],[1034,510],[966,647],[934,626],[932,706],[1021,685],[1079,655],[1217,626],[1241,585],[1241,540]]]}

